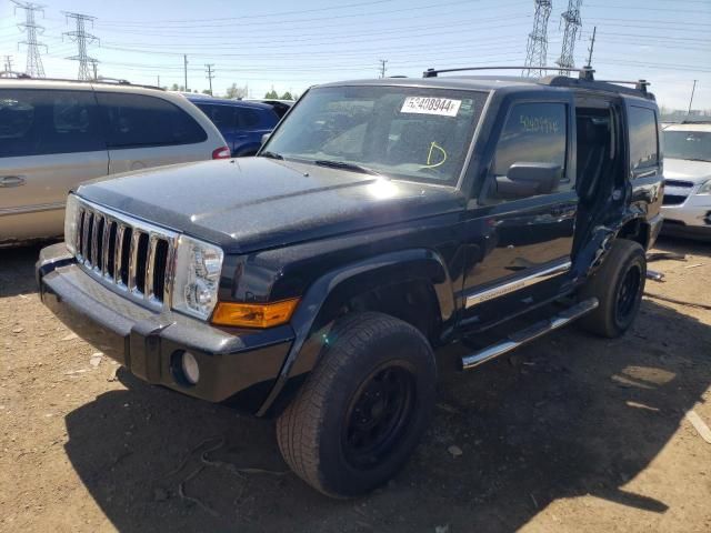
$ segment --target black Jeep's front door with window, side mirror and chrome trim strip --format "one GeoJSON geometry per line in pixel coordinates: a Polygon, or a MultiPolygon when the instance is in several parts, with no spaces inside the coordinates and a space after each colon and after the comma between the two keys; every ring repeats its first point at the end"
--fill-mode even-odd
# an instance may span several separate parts
{"type": "Polygon", "coordinates": [[[499,111],[467,212],[463,324],[485,325],[557,293],[570,270],[578,197],[573,103],[512,100],[499,111]]]}

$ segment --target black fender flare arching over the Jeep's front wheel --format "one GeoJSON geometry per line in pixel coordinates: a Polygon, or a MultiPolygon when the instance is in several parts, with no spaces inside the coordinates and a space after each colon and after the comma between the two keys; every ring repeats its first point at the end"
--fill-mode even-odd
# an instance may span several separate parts
{"type": "MultiPolygon", "coordinates": [[[[316,365],[322,343],[307,343],[307,341],[314,333],[314,324],[317,324],[317,319],[329,295],[362,276],[368,276],[371,281],[369,285],[372,284],[373,288],[381,285],[381,274],[388,274],[393,269],[398,270],[398,281],[431,281],[442,322],[454,316],[452,282],[442,258],[432,250],[413,249],[375,255],[324,274],[311,284],[291,319],[291,325],[294,330],[293,343],[274,386],[257,412],[258,416],[267,414],[290,378],[306,374],[316,365]]],[[[329,329],[330,325],[326,328],[326,330],[329,329]]],[[[319,340],[322,339],[322,335],[317,336],[319,340]]]]}

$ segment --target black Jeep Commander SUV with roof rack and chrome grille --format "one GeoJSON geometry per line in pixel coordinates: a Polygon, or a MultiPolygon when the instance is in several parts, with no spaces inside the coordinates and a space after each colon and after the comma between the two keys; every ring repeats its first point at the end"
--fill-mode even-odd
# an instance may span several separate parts
{"type": "Polygon", "coordinates": [[[430,420],[434,348],[512,318],[461,368],[577,319],[624,333],[661,222],[645,82],[441,72],[314,87],[254,158],[82,184],[42,301],[149,383],[278,418],[319,491],[382,484],[430,420]]]}

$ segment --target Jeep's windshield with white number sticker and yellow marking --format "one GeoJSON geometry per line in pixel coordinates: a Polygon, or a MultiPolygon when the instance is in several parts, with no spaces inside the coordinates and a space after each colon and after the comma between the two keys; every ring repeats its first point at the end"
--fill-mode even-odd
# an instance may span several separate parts
{"type": "Polygon", "coordinates": [[[485,92],[388,86],[310,90],[264,151],[308,163],[455,185],[485,92]]]}

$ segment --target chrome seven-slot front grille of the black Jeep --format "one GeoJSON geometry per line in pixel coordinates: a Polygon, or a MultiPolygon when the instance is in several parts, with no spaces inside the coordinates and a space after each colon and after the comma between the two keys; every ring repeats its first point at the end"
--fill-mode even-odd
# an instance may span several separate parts
{"type": "Polygon", "coordinates": [[[80,200],[77,261],[91,275],[153,309],[170,303],[177,235],[80,200]]]}

